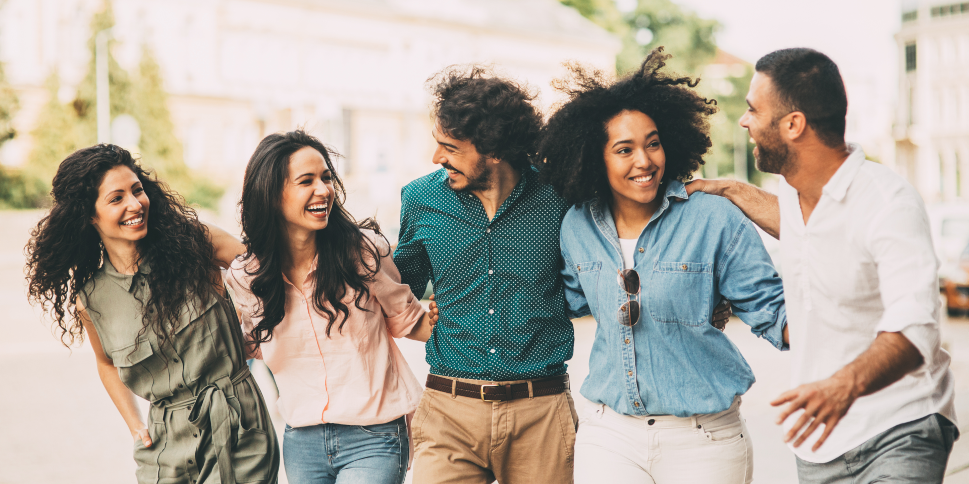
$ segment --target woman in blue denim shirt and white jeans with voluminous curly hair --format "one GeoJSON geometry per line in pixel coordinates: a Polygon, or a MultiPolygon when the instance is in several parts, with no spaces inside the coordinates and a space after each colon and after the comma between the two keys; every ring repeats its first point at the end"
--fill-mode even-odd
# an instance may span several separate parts
{"type": "Polygon", "coordinates": [[[573,66],[540,143],[542,177],[575,205],[560,237],[569,309],[598,322],[578,483],[750,482],[739,396],[754,375],[709,323],[714,305],[731,300],[786,348],[781,281],[754,226],[725,198],[686,194],[716,107],[667,58],[659,47],[615,82],[573,66]]]}

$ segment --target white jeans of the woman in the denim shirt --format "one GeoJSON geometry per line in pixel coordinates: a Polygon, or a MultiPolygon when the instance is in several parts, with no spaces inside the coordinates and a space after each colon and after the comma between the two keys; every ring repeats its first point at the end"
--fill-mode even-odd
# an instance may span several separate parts
{"type": "Polygon", "coordinates": [[[746,484],[754,451],[740,397],[720,413],[633,416],[605,405],[578,419],[576,484],[746,484]]]}

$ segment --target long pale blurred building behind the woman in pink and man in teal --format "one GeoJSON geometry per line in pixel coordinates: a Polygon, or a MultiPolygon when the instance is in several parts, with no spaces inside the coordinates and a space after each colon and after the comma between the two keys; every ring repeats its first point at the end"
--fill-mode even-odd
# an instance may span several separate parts
{"type": "MultiPolygon", "coordinates": [[[[89,62],[91,15],[104,0],[7,0],[0,60],[19,95],[21,134],[0,160],[23,162],[24,136],[56,71],[61,101],[89,62]]],[[[185,162],[226,185],[234,213],[242,172],[266,134],[305,127],[344,158],[338,169],[357,217],[396,237],[399,189],[435,169],[429,76],[491,64],[558,98],[562,62],[614,71],[619,42],[556,0],[113,0],[113,55],[134,72],[142,45],[161,65],[185,162]]]]}

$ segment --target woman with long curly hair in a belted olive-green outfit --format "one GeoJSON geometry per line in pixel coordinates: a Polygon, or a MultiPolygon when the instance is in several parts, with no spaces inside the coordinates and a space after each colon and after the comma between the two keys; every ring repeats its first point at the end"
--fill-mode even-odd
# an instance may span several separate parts
{"type": "Polygon", "coordinates": [[[86,333],[138,482],[276,482],[276,435],[195,211],[111,144],[67,157],[51,195],[27,246],[30,297],[66,345],[86,333]]]}

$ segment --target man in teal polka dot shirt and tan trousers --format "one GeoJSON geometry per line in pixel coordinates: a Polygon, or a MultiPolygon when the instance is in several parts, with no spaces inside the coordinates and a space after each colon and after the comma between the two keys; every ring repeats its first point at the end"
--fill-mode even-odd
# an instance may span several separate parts
{"type": "Polygon", "coordinates": [[[433,80],[443,169],[401,192],[394,263],[440,319],[413,421],[414,482],[572,482],[575,335],[559,277],[568,206],[529,163],[542,126],[531,96],[480,68],[433,80]]]}

